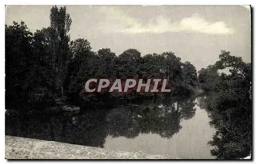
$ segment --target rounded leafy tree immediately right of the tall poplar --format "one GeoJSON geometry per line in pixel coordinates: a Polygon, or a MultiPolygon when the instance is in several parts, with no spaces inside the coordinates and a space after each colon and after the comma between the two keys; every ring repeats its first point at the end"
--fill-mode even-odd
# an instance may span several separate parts
{"type": "Polygon", "coordinates": [[[79,95],[84,84],[95,73],[95,54],[91,51],[90,42],[85,39],[76,39],[71,42],[70,53],[72,58],[68,64],[65,80],[65,90],[69,101],[81,102],[79,95]]]}

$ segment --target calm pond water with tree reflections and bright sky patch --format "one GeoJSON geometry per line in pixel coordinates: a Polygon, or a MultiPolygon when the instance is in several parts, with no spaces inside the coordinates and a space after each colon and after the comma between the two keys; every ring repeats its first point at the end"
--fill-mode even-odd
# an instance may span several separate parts
{"type": "Polygon", "coordinates": [[[116,149],[215,158],[215,129],[204,110],[205,97],[155,100],[113,108],[83,109],[76,115],[8,115],[6,135],[116,149]]]}

